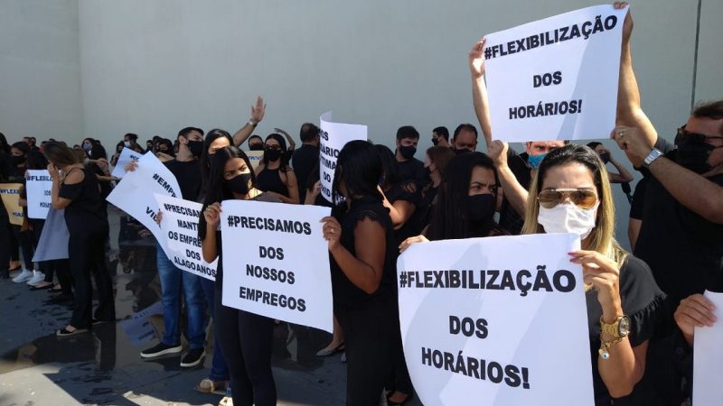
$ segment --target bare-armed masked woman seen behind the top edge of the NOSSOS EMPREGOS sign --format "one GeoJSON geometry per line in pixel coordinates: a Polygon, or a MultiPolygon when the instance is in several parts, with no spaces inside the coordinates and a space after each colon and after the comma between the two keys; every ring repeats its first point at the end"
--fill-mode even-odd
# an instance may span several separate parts
{"type": "Polygon", "coordinates": [[[269,134],[264,144],[262,165],[256,169],[258,189],[284,203],[299,203],[296,174],[288,166],[286,141],[280,134],[269,134]]]}

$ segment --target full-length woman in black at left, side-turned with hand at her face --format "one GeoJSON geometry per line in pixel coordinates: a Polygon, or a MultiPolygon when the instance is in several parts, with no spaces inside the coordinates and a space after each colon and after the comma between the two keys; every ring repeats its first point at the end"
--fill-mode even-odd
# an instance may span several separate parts
{"type": "Polygon", "coordinates": [[[46,143],[43,152],[50,162],[52,206],[65,209],[65,223],[70,232],[68,255],[75,304],[70,323],[57,332],[59,337],[64,337],[86,331],[93,323],[116,319],[113,287],[105,260],[108,216],[98,179],[70,148],[61,143],[46,143]],[[91,316],[91,272],[99,293],[99,307],[94,316],[91,316]]]}

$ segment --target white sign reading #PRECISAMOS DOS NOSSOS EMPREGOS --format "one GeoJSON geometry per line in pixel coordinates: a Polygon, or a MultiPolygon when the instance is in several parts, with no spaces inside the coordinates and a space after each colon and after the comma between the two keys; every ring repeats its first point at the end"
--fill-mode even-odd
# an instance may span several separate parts
{"type": "Polygon", "coordinates": [[[320,220],[330,209],[221,203],[223,304],[332,332],[332,280],[320,220]]]}

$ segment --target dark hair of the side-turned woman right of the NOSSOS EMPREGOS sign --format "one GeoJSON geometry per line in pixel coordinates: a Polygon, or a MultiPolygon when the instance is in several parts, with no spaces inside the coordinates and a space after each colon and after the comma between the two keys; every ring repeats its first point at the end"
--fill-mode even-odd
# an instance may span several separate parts
{"type": "Polygon", "coordinates": [[[340,182],[344,182],[347,198],[354,196],[370,196],[379,198],[381,194],[377,189],[382,174],[381,159],[374,145],[367,141],[357,140],[346,143],[336,159],[336,169],[333,172],[332,199],[339,200],[340,182]]]}

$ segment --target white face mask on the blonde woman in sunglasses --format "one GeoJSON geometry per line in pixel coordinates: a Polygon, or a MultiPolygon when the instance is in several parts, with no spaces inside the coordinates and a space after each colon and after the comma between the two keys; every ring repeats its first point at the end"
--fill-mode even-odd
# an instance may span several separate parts
{"type": "Polygon", "coordinates": [[[554,208],[540,206],[537,222],[545,228],[546,233],[572,233],[587,238],[595,228],[595,215],[598,201],[594,208],[578,208],[572,203],[559,204],[554,208]]]}

